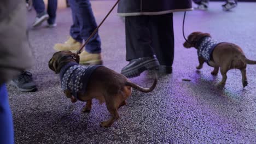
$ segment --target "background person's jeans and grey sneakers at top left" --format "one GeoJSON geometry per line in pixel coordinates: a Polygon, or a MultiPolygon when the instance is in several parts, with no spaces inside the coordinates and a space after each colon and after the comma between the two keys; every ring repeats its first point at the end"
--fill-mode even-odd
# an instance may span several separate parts
{"type": "Polygon", "coordinates": [[[34,20],[32,27],[40,26],[47,20],[48,27],[56,27],[56,10],[57,0],[48,0],[47,12],[45,10],[45,4],[43,0],[33,0],[33,7],[36,10],[37,16],[34,20]]]}

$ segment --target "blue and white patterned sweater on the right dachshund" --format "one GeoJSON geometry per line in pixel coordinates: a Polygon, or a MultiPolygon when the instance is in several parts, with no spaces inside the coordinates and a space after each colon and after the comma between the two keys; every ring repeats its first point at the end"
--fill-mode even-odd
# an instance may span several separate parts
{"type": "Polygon", "coordinates": [[[220,43],[216,40],[213,40],[211,37],[203,37],[197,43],[197,55],[202,57],[205,62],[210,62],[212,52],[218,44],[220,43]]]}

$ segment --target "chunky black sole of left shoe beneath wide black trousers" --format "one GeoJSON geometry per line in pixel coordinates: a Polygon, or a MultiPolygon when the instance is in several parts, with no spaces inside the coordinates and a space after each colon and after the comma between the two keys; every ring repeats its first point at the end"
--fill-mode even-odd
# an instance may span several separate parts
{"type": "Polygon", "coordinates": [[[141,73],[145,70],[155,70],[159,68],[159,62],[156,61],[155,59],[149,60],[146,62],[143,62],[139,65],[136,65],[136,67],[127,69],[125,71],[121,71],[121,74],[124,76],[131,78],[131,77],[136,77],[141,75],[141,73]]]}

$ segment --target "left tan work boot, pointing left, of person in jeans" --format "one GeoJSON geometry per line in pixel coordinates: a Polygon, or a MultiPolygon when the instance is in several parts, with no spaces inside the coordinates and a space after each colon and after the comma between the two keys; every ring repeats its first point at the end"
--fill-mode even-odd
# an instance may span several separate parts
{"type": "Polygon", "coordinates": [[[77,52],[81,46],[82,46],[82,43],[79,43],[78,41],[74,40],[72,37],[69,37],[69,39],[64,44],[55,44],[54,50],[77,52]]]}

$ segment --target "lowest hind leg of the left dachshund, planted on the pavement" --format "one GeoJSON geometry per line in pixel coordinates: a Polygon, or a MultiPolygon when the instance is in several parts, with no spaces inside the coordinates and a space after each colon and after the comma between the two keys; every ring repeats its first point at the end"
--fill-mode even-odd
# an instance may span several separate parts
{"type": "Polygon", "coordinates": [[[114,121],[116,121],[119,118],[117,107],[114,107],[114,105],[107,105],[107,109],[112,115],[112,117],[109,118],[108,121],[101,122],[102,127],[110,127],[114,123],[114,121]]]}

